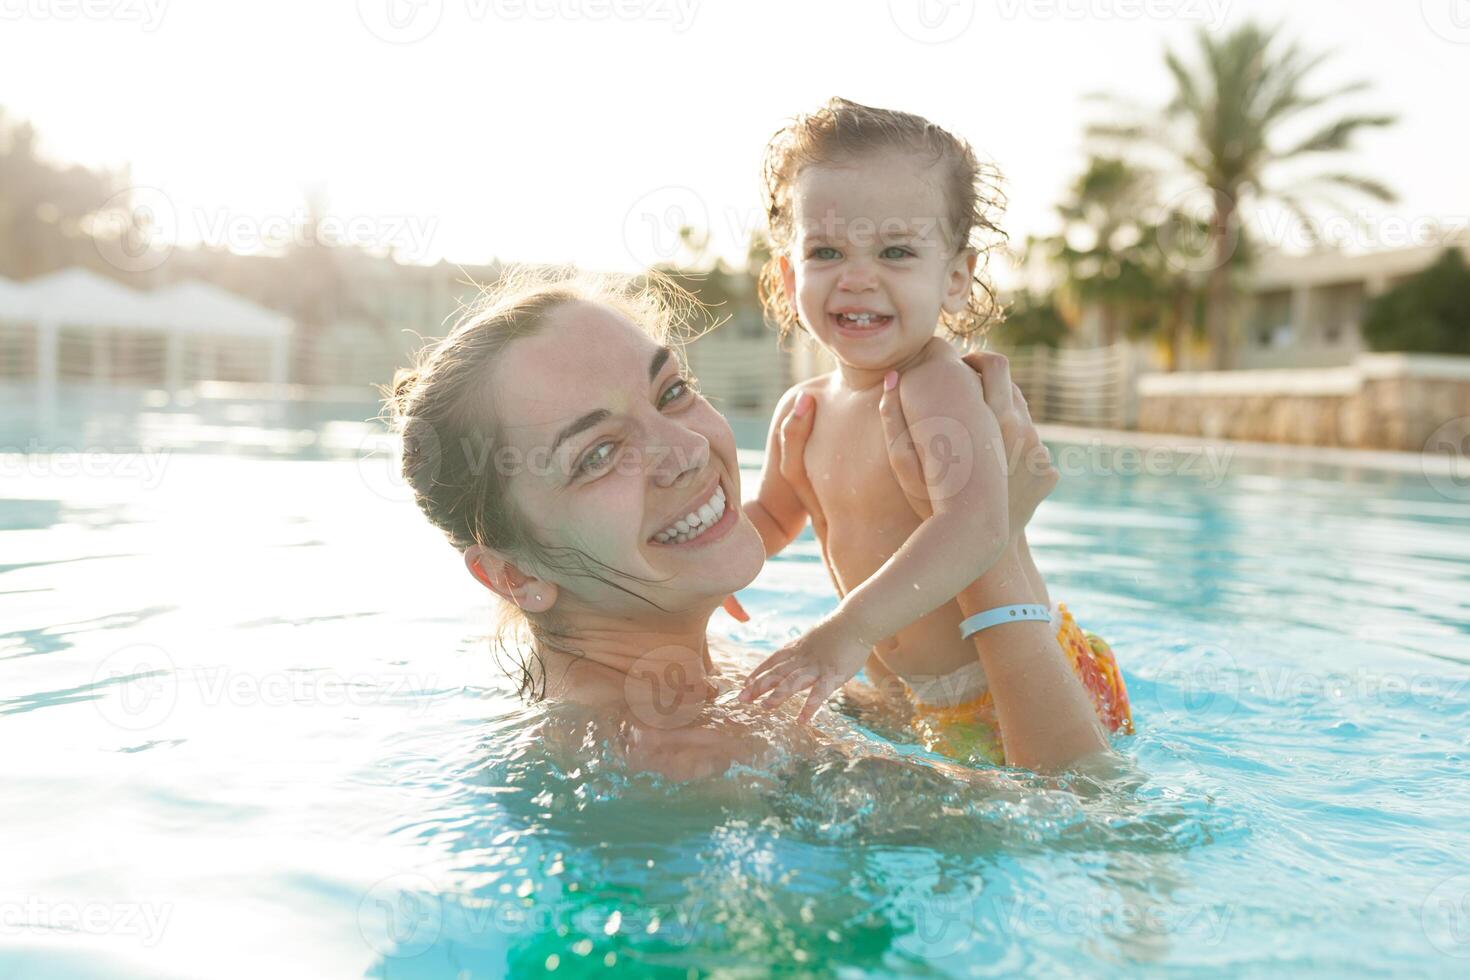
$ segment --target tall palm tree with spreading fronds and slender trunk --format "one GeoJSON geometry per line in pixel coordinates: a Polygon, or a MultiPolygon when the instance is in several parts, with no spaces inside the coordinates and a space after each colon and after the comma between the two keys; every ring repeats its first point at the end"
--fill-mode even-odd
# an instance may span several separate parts
{"type": "Polygon", "coordinates": [[[1230,364],[1230,310],[1235,285],[1232,253],[1244,229],[1241,207],[1248,201],[1279,201],[1311,235],[1308,200],[1339,207],[1324,192],[1348,190],[1392,201],[1394,192],[1379,181],[1342,172],[1324,172],[1295,185],[1277,188],[1269,179],[1274,166],[1288,160],[1330,154],[1351,147],[1363,129],[1392,125],[1389,115],[1349,113],[1288,141],[1285,129],[1316,109],[1344,96],[1364,91],[1364,81],[1320,93],[1307,91],[1307,78],[1330,53],[1307,54],[1295,43],[1277,43],[1276,31],[1245,24],[1216,37],[1198,34],[1198,63],[1186,65],[1175,51],[1164,63],[1173,76],[1175,94],[1154,119],[1100,123],[1088,128],[1097,140],[1161,150],[1175,169],[1211,197],[1208,207],[1208,288],[1205,326],[1217,369],[1230,364]]]}

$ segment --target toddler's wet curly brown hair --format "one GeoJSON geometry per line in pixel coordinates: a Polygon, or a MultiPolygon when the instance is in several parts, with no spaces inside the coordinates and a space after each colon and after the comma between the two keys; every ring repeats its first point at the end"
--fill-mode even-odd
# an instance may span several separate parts
{"type": "Polygon", "coordinates": [[[923,154],[941,167],[945,213],[933,217],[956,253],[973,248],[979,259],[964,309],[944,313],[939,322],[954,339],[970,341],[995,320],[998,304],[985,278],[985,263],[991,250],[1005,239],[995,223],[1005,206],[1000,172],[980,163],[969,143],[922,116],[831,98],[816,112],[797,116],[778,129],[761,162],[770,259],[760,270],[757,287],[766,319],[784,341],[803,329],[781,276],[781,257],[789,254],[795,238],[792,188],[797,178],[813,165],[850,163],[885,150],[923,154]]]}

